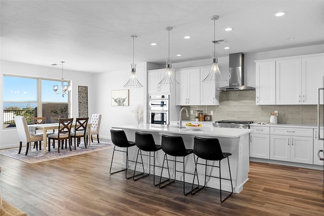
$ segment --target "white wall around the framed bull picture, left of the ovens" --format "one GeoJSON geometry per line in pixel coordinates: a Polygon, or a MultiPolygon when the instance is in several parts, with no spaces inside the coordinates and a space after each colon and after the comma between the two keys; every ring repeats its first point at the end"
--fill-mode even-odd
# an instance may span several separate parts
{"type": "MultiPolygon", "coordinates": [[[[146,123],[146,63],[138,64],[136,75],[143,88],[129,89],[129,106],[111,106],[111,91],[125,90],[124,84],[131,75],[131,69],[97,73],[94,75],[96,104],[98,113],[102,114],[100,125],[100,138],[110,139],[111,126],[137,124],[135,114],[132,112],[137,105],[142,105],[144,110],[144,123],[146,123]]],[[[143,123],[143,121],[142,121],[143,123]]]]}

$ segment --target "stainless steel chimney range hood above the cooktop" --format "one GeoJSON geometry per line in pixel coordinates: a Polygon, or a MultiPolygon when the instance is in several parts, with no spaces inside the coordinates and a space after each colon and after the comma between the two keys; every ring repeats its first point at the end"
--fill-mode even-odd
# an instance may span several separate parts
{"type": "Polygon", "coordinates": [[[255,90],[254,87],[244,85],[244,54],[229,54],[229,85],[217,88],[217,91],[255,90]]]}

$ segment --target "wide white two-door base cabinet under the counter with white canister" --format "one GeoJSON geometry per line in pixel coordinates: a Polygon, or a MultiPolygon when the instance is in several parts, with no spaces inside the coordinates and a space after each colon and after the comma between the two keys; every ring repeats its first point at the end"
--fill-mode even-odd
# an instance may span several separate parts
{"type": "Polygon", "coordinates": [[[313,164],[313,129],[270,128],[270,159],[313,164]]]}

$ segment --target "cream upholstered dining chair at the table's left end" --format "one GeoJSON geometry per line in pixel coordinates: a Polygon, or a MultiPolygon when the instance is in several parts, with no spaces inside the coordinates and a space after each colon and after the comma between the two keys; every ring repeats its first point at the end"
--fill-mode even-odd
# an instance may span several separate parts
{"type": "Polygon", "coordinates": [[[28,131],[28,125],[27,120],[24,116],[18,115],[15,117],[17,132],[18,132],[18,138],[19,138],[19,151],[18,154],[21,152],[22,143],[27,143],[26,153],[27,155],[29,150],[29,143],[34,142],[34,145],[36,145],[36,150],[38,150],[38,142],[39,142],[39,150],[41,150],[41,141],[43,140],[42,135],[30,135],[28,131]]]}

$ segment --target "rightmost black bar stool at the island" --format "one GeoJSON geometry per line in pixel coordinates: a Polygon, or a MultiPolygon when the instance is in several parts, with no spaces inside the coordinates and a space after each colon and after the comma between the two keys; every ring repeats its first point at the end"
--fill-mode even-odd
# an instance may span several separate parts
{"type": "MultiPolygon", "coordinates": [[[[233,193],[233,183],[232,183],[231,169],[230,169],[230,166],[229,166],[229,159],[228,159],[228,156],[230,156],[232,154],[222,151],[221,145],[220,145],[219,140],[217,138],[199,138],[199,137],[194,137],[193,153],[197,156],[195,170],[194,170],[194,174],[197,174],[197,179],[198,179],[197,164],[205,165],[205,184],[204,184],[203,187],[198,188],[196,191],[194,191],[194,189],[192,189],[191,194],[194,194],[194,193],[200,191],[201,189],[205,188],[205,186],[206,186],[206,177],[217,178],[217,179],[219,179],[220,199],[221,199],[221,202],[223,203],[233,193]],[[198,163],[199,158],[205,159],[206,163],[205,164],[204,163],[198,163]],[[224,179],[224,178],[221,177],[221,160],[225,159],[225,158],[227,158],[227,162],[228,162],[228,169],[229,169],[229,177],[230,177],[230,179],[224,179]],[[213,161],[218,160],[219,161],[219,166],[207,164],[207,160],[213,160],[213,161]],[[219,168],[219,177],[207,175],[207,166],[218,167],[219,168]],[[223,200],[222,200],[222,184],[221,184],[222,179],[230,181],[231,182],[231,187],[232,187],[231,193],[228,196],[226,196],[226,198],[223,199],[223,200]]],[[[194,178],[195,178],[195,175],[193,177],[192,188],[193,188],[194,178]]],[[[198,187],[199,187],[199,181],[198,181],[198,187]]]]}

